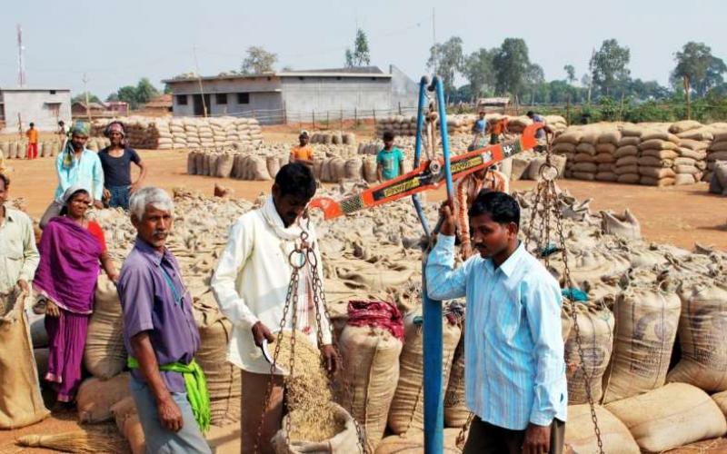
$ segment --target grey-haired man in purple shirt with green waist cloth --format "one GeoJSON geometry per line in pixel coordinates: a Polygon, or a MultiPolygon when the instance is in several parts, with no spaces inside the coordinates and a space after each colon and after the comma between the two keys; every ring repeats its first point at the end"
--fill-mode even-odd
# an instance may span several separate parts
{"type": "Polygon", "coordinates": [[[184,380],[184,373],[196,366],[200,345],[192,298],[174,255],[164,247],[174,203],[161,189],[146,187],[134,193],[130,212],[138,236],[121,270],[118,292],[132,368],[129,387],[146,451],[209,453],[195,419],[198,393],[188,393],[184,380]]]}

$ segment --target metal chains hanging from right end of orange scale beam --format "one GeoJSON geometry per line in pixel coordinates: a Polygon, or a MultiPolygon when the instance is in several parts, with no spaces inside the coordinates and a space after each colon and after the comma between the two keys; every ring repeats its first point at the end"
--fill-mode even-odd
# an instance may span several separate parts
{"type": "MultiPolygon", "coordinates": [[[[553,172],[556,170],[552,163],[553,148],[550,140],[550,136],[547,136],[546,151],[545,151],[545,164],[541,168],[541,178],[539,179],[538,186],[535,193],[535,204],[532,207],[530,223],[526,231],[525,245],[531,241],[531,234],[533,227],[537,221],[540,221],[539,227],[541,236],[540,239],[533,239],[535,242],[535,252],[538,256],[544,255],[543,262],[545,266],[550,264],[550,252],[547,248],[550,246],[551,239],[551,215],[554,211],[555,218],[555,231],[558,235],[558,241],[561,243],[561,253],[563,257],[563,285],[566,289],[571,290],[573,288],[573,281],[571,279],[571,269],[568,265],[568,252],[565,244],[565,234],[563,233],[563,212],[559,206],[557,190],[555,186],[554,175],[551,177],[545,177],[545,172],[553,172]],[[540,210],[540,202],[543,201],[543,210],[540,210]],[[536,220],[537,214],[540,213],[540,220],[536,220]],[[545,252],[545,253],[541,253],[545,252]]],[[[556,170],[557,171],[557,170],[556,170]]],[[[556,172],[557,175],[557,172],[556,172]]],[[[581,328],[578,326],[578,311],[576,311],[575,301],[573,295],[568,298],[569,306],[571,309],[571,317],[573,319],[573,328],[575,330],[575,344],[580,359],[580,368],[583,372],[583,379],[585,380],[585,393],[588,405],[591,409],[591,419],[593,420],[593,430],[595,432],[596,440],[598,443],[598,452],[603,454],[603,439],[601,436],[601,428],[598,424],[598,417],[596,415],[595,404],[593,402],[593,392],[591,390],[591,374],[588,372],[585,365],[585,354],[583,353],[583,339],[581,337],[581,328]]]]}

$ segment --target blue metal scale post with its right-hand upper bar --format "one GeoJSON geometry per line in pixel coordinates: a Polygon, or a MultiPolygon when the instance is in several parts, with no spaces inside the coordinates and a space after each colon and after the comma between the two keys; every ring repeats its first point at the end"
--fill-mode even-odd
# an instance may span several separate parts
{"type": "MultiPolygon", "coordinates": [[[[452,201],[454,187],[452,182],[452,166],[450,164],[449,137],[447,136],[447,112],[444,104],[442,81],[434,76],[432,87],[437,95],[439,109],[440,135],[444,158],[444,178],[447,184],[447,197],[452,201]]],[[[443,390],[443,345],[442,301],[429,298],[426,290],[426,262],[428,254],[424,254],[422,264],[422,299],[423,299],[423,369],[424,369],[424,453],[441,454],[444,445],[444,390],[443,390]]]]}

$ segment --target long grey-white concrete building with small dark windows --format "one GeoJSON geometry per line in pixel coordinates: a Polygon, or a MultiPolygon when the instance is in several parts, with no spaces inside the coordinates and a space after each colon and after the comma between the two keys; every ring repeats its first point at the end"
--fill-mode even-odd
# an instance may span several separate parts
{"type": "Polygon", "coordinates": [[[393,65],[167,79],[174,116],[254,116],[261,123],[370,118],[416,105],[418,86],[393,65]],[[201,85],[201,86],[200,86],[201,85]]]}

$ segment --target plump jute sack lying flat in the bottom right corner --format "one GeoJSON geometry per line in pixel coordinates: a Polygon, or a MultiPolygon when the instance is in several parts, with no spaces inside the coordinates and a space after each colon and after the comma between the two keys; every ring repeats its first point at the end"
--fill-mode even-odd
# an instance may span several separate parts
{"type": "Polygon", "coordinates": [[[610,403],[606,409],[621,419],[639,448],[647,452],[662,452],[727,432],[727,422],[714,400],[684,383],[670,383],[610,403]]]}

